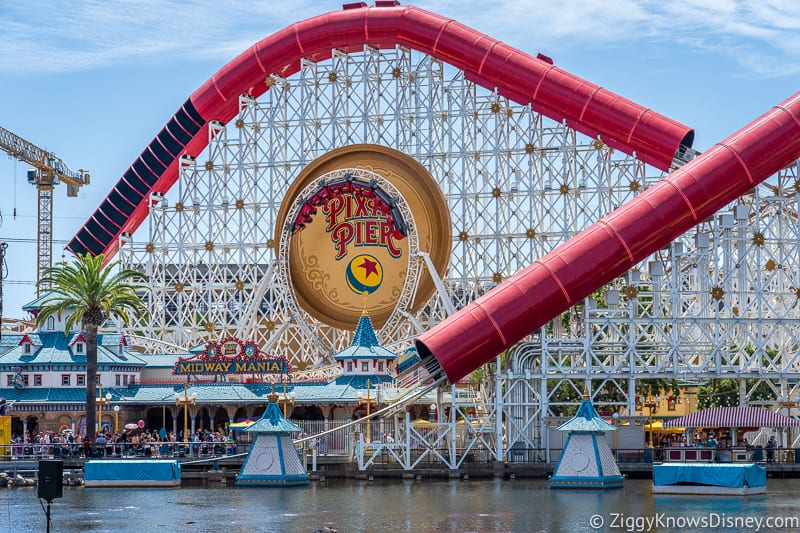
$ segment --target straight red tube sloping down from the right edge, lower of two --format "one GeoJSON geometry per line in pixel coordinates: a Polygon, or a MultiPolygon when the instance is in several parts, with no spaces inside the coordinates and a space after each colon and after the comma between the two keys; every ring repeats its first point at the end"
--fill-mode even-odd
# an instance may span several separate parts
{"type": "Polygon", "coordinates": [[[800,93],[420,336],[455,382],[800,157],[800,93]]]}

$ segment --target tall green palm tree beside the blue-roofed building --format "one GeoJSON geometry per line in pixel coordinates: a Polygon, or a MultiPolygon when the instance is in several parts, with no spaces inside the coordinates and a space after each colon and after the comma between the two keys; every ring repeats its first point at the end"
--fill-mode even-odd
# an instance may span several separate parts
{"type": "Polygon", "coordinates": [[[59,321],[66,315],[64,335],[69,335],[78,323],[86,332],[86,435],[92,438],[96,423],[97,330],[111,317],[128,325],[131,318],[142,319],[149,314],[136,294],[143,285],[135,283],[146,281],[147,277],[136,270],[114,274],[119,261],[103,267],[103,260],[103,254],[79,254],[73,264],[64,262],[45,270],[39,287],[48,292],[36,315],[38,326],[53,315],[59,321]]]}

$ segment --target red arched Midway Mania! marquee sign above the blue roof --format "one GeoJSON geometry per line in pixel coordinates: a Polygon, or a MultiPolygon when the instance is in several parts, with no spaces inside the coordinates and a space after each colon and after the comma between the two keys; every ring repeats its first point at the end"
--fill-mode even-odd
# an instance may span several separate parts
{"type": "Polygon", "coordinates": [[[173,374],[288,374],[289,360],[269,357],[253,341],[227,337],[206,344],[195,357],[179,358],[173,374]]]}

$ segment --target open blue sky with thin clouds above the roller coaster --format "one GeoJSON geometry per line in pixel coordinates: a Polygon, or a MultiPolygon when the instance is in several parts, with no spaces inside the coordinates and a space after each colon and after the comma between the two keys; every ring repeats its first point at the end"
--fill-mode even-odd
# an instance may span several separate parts
{"type": "MultiPolygon", "coordinates": [[[[8,0],[0,3],[0,126],[91,171],[54,197],[54,260],[203,82],[256,41],[342,2],[8,0]]],[[[412,2],[403,2],[412,4],[412,2]]],[[[706,150],[800,90],[789,0],[445,0],[413,5],[555,64],[696,130],[706,150]]],[[[35,296],[35,188],[0,154],[3,315],[35,296]],[[14,211],[16,210],[16,218],[14,211]]]]}

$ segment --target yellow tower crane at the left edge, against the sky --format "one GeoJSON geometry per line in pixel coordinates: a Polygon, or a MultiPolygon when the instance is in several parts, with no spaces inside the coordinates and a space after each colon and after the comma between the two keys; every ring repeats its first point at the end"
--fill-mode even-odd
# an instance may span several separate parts
{"type": "Polygon", "coordinates": [[[38,281],[53,265],[53,188],[67,184],[67,196],[75,198],[84,185],[89,184],[89,173],[83,169],[74,172],[52,152],[43,150],[7,129],[0,127],[0,149],[11,157],[33,167],[28,171],[28,183],[36,185],[39,195],[38,224],[36,232],[36,295],[41,287],[38,281]]]}

